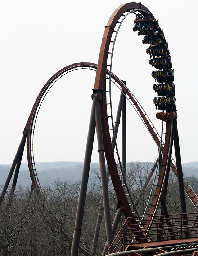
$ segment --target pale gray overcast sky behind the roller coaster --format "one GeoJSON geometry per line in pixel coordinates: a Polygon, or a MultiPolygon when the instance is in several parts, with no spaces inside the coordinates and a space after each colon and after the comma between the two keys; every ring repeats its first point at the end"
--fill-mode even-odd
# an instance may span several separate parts
{"type": "MultiPolygon", "coordinates": [[[[1,1],[0,163],[12,163],[23,128],[40,89],[58,70],[76,62],[98,62],[100,44],[113,11],[111,1],[1,1]]],[[[197,9],[198,2],[147,0],[143,5],[164,30],[172,55],[182,162],[197,161],[197,9]],[[186,4],[188,3],[188,5],[186,4]],[[193,12],[195,10],[195,12],[193,12]]],[[[154,79],[143,37],[132,31],[135,16],[123,22],[112,71],[138,98],[161,131],[153,106],[154,79]]],[[[75,71],[60,79],[41,106],[35,130],[35,161],[83,161],[94,71],[75,71]]],[[[115,92],[114,111],[119,92],[115,92]]],[[[94,145],[93,162],[98,162],[94,145]]],[[[127,106],[127,160],[153,161],[157,147],[137,114],[127,106]]],[[[27,162],[24,156],[23,162],[27,162]]]]}

